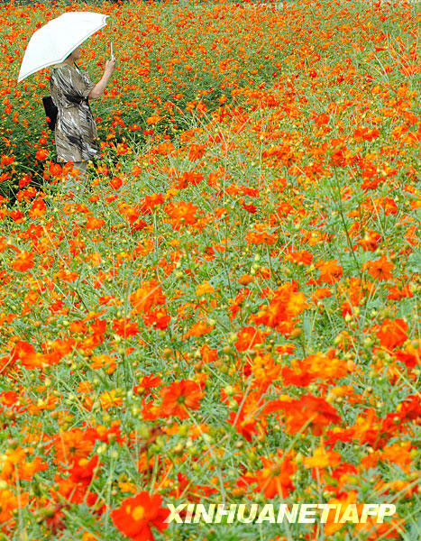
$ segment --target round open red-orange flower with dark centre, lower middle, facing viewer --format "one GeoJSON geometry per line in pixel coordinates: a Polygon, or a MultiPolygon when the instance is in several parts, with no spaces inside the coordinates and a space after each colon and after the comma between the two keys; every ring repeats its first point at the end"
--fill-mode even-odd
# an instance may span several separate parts
{"type": "Polygon", "coordinates": [[[164,417],[176,416],[180,419],[188,418],[187,408],[198,409],[199,400],[203,392],[195,381],[174,381],[169,387],[161,390],[161,415],[164,417]]]}

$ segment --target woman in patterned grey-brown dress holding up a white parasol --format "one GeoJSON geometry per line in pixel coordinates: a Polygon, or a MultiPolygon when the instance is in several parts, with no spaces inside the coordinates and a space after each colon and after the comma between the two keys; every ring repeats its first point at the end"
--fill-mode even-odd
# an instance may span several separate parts
{"type": "Polygon", "coordinates": [[[100,97],[114,73],[115,60],[105,62],[101,80],[91,83],[86,71],[78,69],[75,61],[80,59],[79,47],[66,60],[50,72],[50,92],[54,105],[59,109],[54,138],[59,161],[73,161],[80,171],[81,186],[70,177],[65,189],[85,191],[87,163],[99,156],[96,122],[89,106],[89,98],[100,97]]]}

